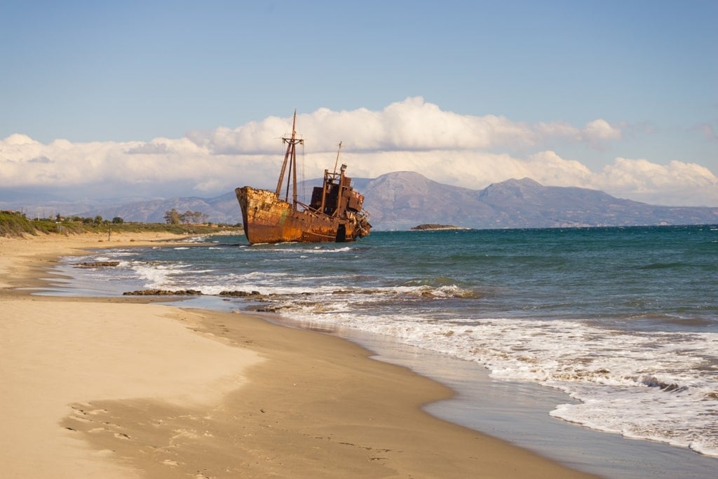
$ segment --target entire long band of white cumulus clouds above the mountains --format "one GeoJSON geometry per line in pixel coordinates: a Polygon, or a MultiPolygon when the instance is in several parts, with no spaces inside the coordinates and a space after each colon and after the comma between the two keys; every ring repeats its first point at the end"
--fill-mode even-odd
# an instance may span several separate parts
{"type": "MultiPolygon", "coordinates": [[[[579,186],[647,203],[718,205],[718,179],[699,164],[616,158],[599,172],[567,159],[551,144],[600,149],[623,138],[630,126],[602,118],[584,126],[537,124],[503,116],[460,115],[407,98],[381,111],[320,108],[297,115],[300,176],[320,177],[333,167],[337,144],[354,177],[408,170],[432,180],[482,188],[511,177],[544,185],[579,186]]],[[[282,136],[292,117],[268,117],[237,128],[193,131],[179,139],[42,144],[27,135],[0,140],[0,188],[65,187],[68,198],[84,185],[104,185],[106,197],[140,190],[174,195],[220,195],[243,185],[276,185],[284,157],[282,136]]]]}

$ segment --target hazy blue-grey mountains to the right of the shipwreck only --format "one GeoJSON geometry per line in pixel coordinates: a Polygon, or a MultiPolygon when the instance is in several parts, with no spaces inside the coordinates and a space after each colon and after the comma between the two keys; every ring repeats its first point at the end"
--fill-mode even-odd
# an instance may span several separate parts
{"type": "Polygon", "coordinates": [[[360,191],[371,223],[388,230],[419,223],[470,228],[718,223],[718,208],[648,205],[586,188],[547,187],[528,178],[470,190],[415,172],[395,172],[369,181],[360,191]]]}

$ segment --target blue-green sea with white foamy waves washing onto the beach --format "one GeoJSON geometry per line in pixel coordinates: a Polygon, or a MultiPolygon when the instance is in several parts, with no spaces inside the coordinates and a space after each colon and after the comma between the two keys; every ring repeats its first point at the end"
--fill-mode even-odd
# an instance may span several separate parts
{"type": "Polygon", "coordinates": [[[718,477],[717,225],[203,236],[57,272],[43,294],[194,289],[355,340],[457,390],[432,414],[605,477],[718,477]]]}

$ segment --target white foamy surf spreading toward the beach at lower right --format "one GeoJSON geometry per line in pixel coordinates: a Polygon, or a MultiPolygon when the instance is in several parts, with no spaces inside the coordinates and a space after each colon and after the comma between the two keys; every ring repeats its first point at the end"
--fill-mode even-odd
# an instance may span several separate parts
{"type": "MultiPolygon", "coordinates": [[[[718,379],[691,373],[691,365],[718,364],[714,333],[634,335],[578,321],[467,318],[447,324],[408,315],[354,315],[338,307],[326,317],[312,308],[304,320],[315,327],[392,336],[480,363],[492,378],[541,383],[581,401],[556,406],[553,417],[718,455],[718,424],[712,420],[718,379]]],[[[289,315],[296,319],[301,313],[289,315]]]]}

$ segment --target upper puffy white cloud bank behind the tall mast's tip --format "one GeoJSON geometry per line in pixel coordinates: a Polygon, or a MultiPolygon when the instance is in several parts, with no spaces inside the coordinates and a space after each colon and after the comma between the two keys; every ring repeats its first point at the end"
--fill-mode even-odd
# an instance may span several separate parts
{"type": "MultiPolygon", "coordinates": [[[[356,151],[421,152],[429,150],[497,149],[533,147],[549,139],[589,145],[620,139],[620,126],[603,119],[577,128],[564,122],[530,125],[503,116],[459,115],[442,111],[423,98],[391,103],[383,111],[358,108],[299,114],[297,131],[307,138],[307,149],[327,152],[338,141],[356,151]]],[[[192,132],[188,137],[214,154],[268,152],[276,140],[292,132],[292,118],[271,116],[236,129],[219,128],[209,133],[192,132]]]]}

